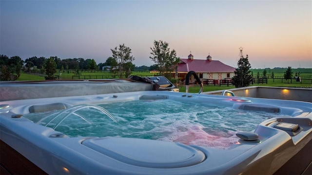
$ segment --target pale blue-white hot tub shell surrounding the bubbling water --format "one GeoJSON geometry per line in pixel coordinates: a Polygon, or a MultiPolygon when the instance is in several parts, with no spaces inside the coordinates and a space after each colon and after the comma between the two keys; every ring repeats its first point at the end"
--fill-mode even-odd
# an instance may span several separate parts
{"type": "MultiPolygon", "coordinates": [[[[312,140],[312,104],[307,102],[169,91],[134,91],[10,100],[0,104],[9,106],[0,110],[0,140],[48,174],[273,174],[301,149],[311,144],[312,140]],[[261,110],[263,105],[266,109],[278,108],[281,114],[292,117],[273,118],[259,123],[254,131],[259,136],[258,140],[237,139],[237,144],[222,150],[158,140],[68,137],[18,115],[29,113],[29,108],[34,105],[61,103],[71,107],[147,97],[148,100],[163,97],[233,108],[249,105],[248,110],[253,110],[253,105],[256,106],[255,109],[260,107],[261,110]],[[299,124],[302,131],[291,136],[273,127],[279,122],[299,124]]],[[[312,158],[308,156],[302,160],[309,164],[312,158]]],[[[300,170],[301,173],[304,171],[300,170]]]]}

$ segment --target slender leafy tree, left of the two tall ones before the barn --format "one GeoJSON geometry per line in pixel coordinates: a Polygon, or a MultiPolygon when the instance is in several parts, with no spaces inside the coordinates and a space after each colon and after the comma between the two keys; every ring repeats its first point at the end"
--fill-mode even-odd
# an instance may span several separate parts
{"type": "Polygon", "coordinates": [[[123,75],[125,74],[126,63],[132,63],[132,61],[135,60],[135,57],[130,55],[131,49],[129,47],[126,47],[125,44],[119,44],[119,47],[115,47],[115,49],[111,49],[113,53],[113,58],[117,61],[118,64],[118,74],[119,78],[123,78],[123,75]]]}

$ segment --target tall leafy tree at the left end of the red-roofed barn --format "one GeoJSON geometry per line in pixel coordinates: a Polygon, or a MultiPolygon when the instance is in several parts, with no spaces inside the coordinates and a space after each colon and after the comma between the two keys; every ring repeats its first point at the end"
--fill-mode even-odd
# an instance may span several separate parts
{"type": "Polygon", "coordinates": [[[156,70],[159,71],[160,76],[169,73],[170,76],[167,78],[171,78],[171,72],[176,69],[176,65],[180,62],[180,58],[176,57],[176,51],[170,51],[169,44],[162,40],[154,40],[154,47],[151,50],[153,56],[150,58],[156,63],[156,70]]]}

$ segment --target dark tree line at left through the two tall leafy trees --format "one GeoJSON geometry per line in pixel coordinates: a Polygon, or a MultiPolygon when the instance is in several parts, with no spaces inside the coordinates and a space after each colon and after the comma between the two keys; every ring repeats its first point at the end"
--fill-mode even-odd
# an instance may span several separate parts
{"type": "Polygon", "coordinates": [[[170,50],[169,44],[162,40],[154,41],[154,47],[150,48],[150,59],[155,62],[155,65],[150,67],[141,66],[136,67],[132,62],[135,57],[131,54],[131,49],[124,44],[119,44],[114,49],[111,49],[112,56],[106,59],[105,63],[97,64],[94,59],[84,58],[66,58],[60,59],[58,56],[50,56],[45,58],[43,56],[33,56],[23,61],[20,56],[8,57],[0,55],[0,80],[11,80],[10,75],[16,74],[20,76],[20,71],[38,70],[40,73],[46,73],[46,79],[54,79],[53,74],[56,70],[101,70],[102,67],[110,67],[113,74],[120,78],[130,75],[132,70],[158,70],[160,75],[165,72],[170,72],[177,65],[179,58],[176,57],[176,51],[170,50]]]}

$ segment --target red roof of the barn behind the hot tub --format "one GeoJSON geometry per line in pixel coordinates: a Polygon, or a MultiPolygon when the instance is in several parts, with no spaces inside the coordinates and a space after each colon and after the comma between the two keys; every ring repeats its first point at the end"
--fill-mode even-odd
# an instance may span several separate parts
{"type": "Polygon", "coordinates": [[[223,64],[217,60],[196,60],[181,58],[178,64],[178,72],[234,72],[235,68],[223,64]]]}

